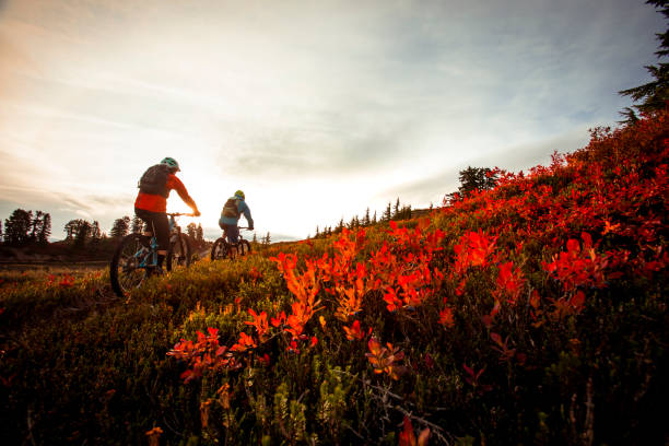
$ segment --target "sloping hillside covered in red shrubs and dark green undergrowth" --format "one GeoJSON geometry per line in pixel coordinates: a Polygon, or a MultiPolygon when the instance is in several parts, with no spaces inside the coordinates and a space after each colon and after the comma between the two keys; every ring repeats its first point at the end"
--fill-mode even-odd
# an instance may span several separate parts
{"type": "Polygon", "coordinates": [[[9,444],[665,444],[666,113],[411,221],[0,282],[9,444]],[[413,442],[413,443],[412,443],[413,442]]]}

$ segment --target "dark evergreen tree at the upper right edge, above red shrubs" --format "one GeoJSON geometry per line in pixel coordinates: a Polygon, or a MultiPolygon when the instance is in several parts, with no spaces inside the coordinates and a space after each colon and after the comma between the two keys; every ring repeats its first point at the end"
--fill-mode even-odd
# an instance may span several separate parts
{"type": "MultiPolygon", "coordinates": [[[[647,4],[654,4],[659,13],[669,19],[669,0],[647,0],[647,4]]],[[[657,33],[656,38],[659,40],[659,49],[655,51],[658,60],[662,60],[669,56],[669,30],[664,33],[657,33]]],[[[667,107],[669,101],[669,63],[659,62],[656,66],[646,66],[646,70],[654,78],[654,81],[646,84],[635,86],[633,89],[622,90],[618,92],[621,96],[630,96],[636,105],[633,108],[641,113],[653,113],[667,107]]],[[[634,124],[638,120],[636,113],[631,107],[625,107],[620,114],[626,119],[621,122],[634,124]]]]}

